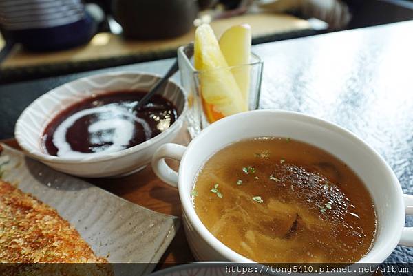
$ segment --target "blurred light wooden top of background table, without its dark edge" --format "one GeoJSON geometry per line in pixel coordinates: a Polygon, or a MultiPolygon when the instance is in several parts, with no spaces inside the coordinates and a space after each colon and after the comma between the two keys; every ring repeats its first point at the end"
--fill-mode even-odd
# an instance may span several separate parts
{"type": "MultiPolygon", "coordinates": [[[[238,17],[213,21],[211,26],[215,34],[221,34],[233,25],[248,23],[251,25],[253,38],[271,36],[299,30],[310,30],[310,23],[288,14],[244,14],[238,17]]],[[[162,52],[176,50],[180,45],[193,41],[195,28],[187,34],[172,39],[157,39],[153,41],[125,40],[122,36],[110,33],[96,34],[87,45],[59,52],[35,53],[15,47],[0,68],[27,67],[49,63],[74,63],[93,59],[107,59],[128,54],[145,54],[145,52],[162,52]]],[[[0,48],[1,48],[0,37],[0,48]]]]}

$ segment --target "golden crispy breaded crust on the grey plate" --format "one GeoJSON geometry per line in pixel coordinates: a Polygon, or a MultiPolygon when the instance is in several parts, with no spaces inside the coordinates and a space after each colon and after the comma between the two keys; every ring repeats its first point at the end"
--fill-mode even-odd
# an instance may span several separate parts
{"type": "Polygon", "coordinates": [[[105,263],[69,222],[0,180],[0,263],[105,263]]]}

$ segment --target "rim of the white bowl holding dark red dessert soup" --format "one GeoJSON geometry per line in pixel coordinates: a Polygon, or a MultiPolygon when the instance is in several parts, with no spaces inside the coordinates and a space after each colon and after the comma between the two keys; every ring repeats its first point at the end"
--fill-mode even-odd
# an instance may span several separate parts
{"type": "MultiPolygon", "coordinates": [[[[41,152],[41,150],[39,149],[39,151],[32,151],[30,149],[28,149],[27,147],[25,147],[25,142],[22,142],[22,138],[21,136],[25,136],[25,134],[23,133],[22,129],[23,129],[23,120],[25,119],[26,116],[28,116],[28,112],[30,109],[33,108],[33,106],[38,103],[41,100],[44,100],[47,95],[51,94],[52,92],[55,92],[58,89],[61,89],[62,87],[64,87],[67,84],[70,83],[77,83],[80,81],[84,81],[85,79],[90,79],[90,78],[98,78],[98,77],[102,77],[102,76],[109,76],[109,77],[119,77],[125,74],[133,74],[133,75],[147,75],[147,76],[153,76],[156,78],[162,78],[161,74],[157,74],[157,73],[153,73],[153,72],[145,72],[145,71],[138,71],[138,70],[134,70],[134,71],[117,71],[117,72],[104,72],[104,73],[100,73],[100,74],[92,74],[90,76],[84,76],[82,78],[76,78],[73,81],[69,81],[67,83],[63,83],[57,87],[54,87],[53,89],[50,89],[49,91],[45,92],[45,94],[39,96],[39,98],[36,98],[36,100],[34,100],[32,103],[30,103],[30,105],[28,105],[28,107],[26,107],[23,112],[21,112],[19,118],[16,121],[16,125],[14,127],[14,138],[16,138],[17,143],[19,144],[19,146],[21,147],[21,149],[23,149],[23,151],[25,153],[28,154],[28,156],[31,156],[32,158],[35,158],[37,160],[41,160],[41,161],[45,161],[45,162],[53,162],[53,163],[59,163],[59,164],[89,164],[89,163],[94,163],[94,162],[102,162],[102,161],[106,161],[106,160],[113,160],[116,158],[120,158],[122,156],[127,156],[130,155],[131,153],[135,153],[136,151],[140,151],[142,149],[145,149],[146,147],[149,147],[150,145],[155,144],[156,142],[159,142],[162,138],[164,138],[164,136],[167,136],[167,134],[169,134],[173,129],[176,129],[176,127],[178,127],[179,125],[182,125],[184,118],[187,115],[187,111],[188,111],[188,100],[187,100],[187,95],[185,94],[185,89],[182,87],[182,85],[180,85],[179,83],[176,83],[176,81],[173,81],[171,78],[169,78],[169,80],[167,81],[167,83],[172,83],[173,85],[175,85],[176,87],[178,87],[178,91],[180,91],[180,93],[182,94],[182,96],[184,97],[184,107],[182,108],[182,112],[180,113],[180,115],[178,116],[178,118],[175,120],[175,122],[173,122],[173,124],[166,130],[161,132],[160,134],[158,134],[157,136],[154,136],[153,138],[150,138],[149,140],[146,140],[145,142],[142,142],[138,145],[135,145],[133,147],[129,147],[127,149],[123,149],[121,151],[116,151],[113,153],[107,153],[107,154],[103,154],[101,156],[93,156],[90,158],[64,158],[64,157],[59,157],[59,156],[52,156],[50,154],[47,153],[43,153],[41,152]]],[[[110,92],[110,91],[107,91],[110,92]]],[[[116,92],[116,90],[114,90],[114,92],[116,92]]],[[[72,104],[76,103],[77,101],[74,101],[72,104]]],[[[61,109],[61,111],[63,111],[64,109],[61,109]]],[[[39,134],[41,135],[41,134],[39,134]]],[[[39,136],[40,138],[40,136],[39,136]]]]}

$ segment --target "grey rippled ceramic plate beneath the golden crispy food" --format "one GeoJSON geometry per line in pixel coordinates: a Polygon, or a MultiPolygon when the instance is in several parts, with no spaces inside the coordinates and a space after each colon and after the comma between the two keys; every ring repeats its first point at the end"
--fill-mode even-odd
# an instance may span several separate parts
{"type": "MultiPolygon", "coordinates": [[[[0,173],[25,193],[55,208],[98,256],[111,263],[141,263],[134,275],[151,272],[178,230],[178,218],[127,202],[1,145],[0,173]]],[[[130,266],[129,266],[130,267],[130,266]]]]}

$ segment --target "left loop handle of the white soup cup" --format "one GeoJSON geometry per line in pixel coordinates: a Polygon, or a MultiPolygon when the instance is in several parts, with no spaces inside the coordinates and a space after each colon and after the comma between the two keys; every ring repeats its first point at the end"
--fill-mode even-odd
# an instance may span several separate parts
{"type": "Polygon", "coordinates": [[[153,154],[153,171],[158,178],[172,187],[178,187],[178,173],[167,165],[165,158],[180,161],[186,149],[187,147],[182,145],[168,143],[160,146],[153,154]]]}

